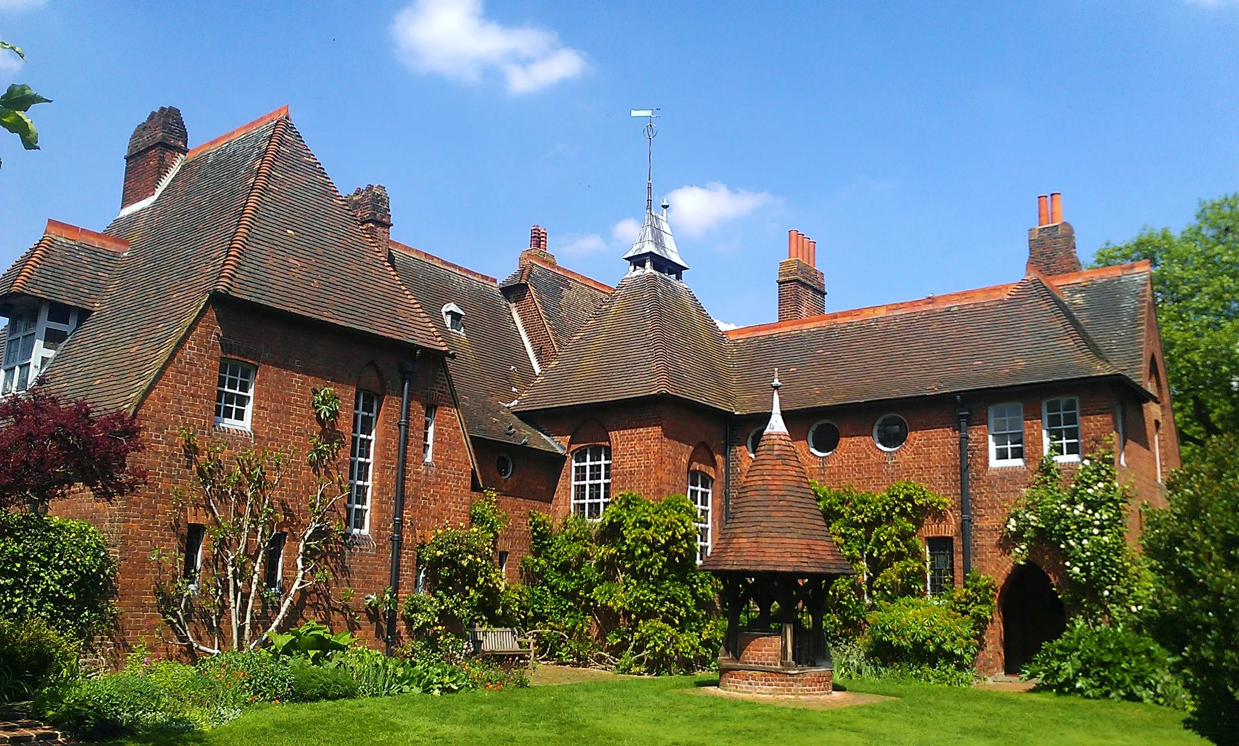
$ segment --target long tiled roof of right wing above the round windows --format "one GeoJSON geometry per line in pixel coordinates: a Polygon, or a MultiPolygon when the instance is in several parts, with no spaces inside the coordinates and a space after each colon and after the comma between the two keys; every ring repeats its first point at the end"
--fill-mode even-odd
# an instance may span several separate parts
{"type": "MultiPolygon", "coordinates": [[[[778,368],[807,409],[1121,373],[1040,276],[950,300],[733,330],[737,377],[778,368]]],[[[764,405],[763,387],[737,393],[738,413],[764,405]]]]}

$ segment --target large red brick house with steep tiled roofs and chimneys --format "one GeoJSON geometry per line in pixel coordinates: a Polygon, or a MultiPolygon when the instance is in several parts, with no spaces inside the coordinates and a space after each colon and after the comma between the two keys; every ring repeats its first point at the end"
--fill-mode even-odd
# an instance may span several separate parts
{"type": "MultiPolygon", "coordinates": [[[[778,368],[809,477],[866,489],[911,478],[953,498],[924,529],[927,584],[958,584],[965,566],[999,580],[980,665],[1011,669],[1056,623],[1052,565],[1012,569],[999,545],[1037,460],[1057,447],[1069,468],[1113,439],[1136,502],[1151,504],[1178,465],[1149,265],[1082,270],[1058,196],[1041,207],[1018,281],[833,314],[815,245],[793,230],[779,320],[724,332],[683,280],[665,209],[647,209],[613,287],[560,266],[538,226],[501,281],[392,240],[385,190],[338,192],[286,109],[188,149],[166,108],[130,140],[120,214],[100,233],[50,221],[0,276],[2,389],[37,378],[141,420],[150,483],[55,508],[112,537],[120,637],[133,642],[160,630],[151,549],[198,549],[193,517],[169,517],[170,491],[190,480],[181,426],[238,449],[300,445],[310,389],[342,394],[351,533],[335,595],[306,613],[378,633],[377,618],[349,621],[339,592],[387,585],[401,482],[410,533],[460,520],[497,489],[510,579],[528,511],[596,516],[626,489],[688,493],[707,553],[778,368]]],[[[398,560],[411,590],[411,549],[398,560]]]]}

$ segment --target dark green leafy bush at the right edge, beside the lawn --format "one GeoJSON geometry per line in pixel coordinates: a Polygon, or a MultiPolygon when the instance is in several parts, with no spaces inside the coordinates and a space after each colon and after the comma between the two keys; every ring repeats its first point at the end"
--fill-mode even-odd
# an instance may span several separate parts
{"type": "Polygon", "coordinates": [[[1199,449],[1150,511],[1141,538],[1157,579],[1157,641],[1176,657],[1196,703],[1192,725],[1239,744],[1239,437],[1199,449]]]}

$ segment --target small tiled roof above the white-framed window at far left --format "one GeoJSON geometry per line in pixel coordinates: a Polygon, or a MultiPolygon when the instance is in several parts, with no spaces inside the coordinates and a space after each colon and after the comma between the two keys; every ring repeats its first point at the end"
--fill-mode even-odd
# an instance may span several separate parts
{"type": "Polygon", "coordinates": [[[59,221],[0,275],[0,304],[21,295],[93,311],[129,243],[59,221]]]}

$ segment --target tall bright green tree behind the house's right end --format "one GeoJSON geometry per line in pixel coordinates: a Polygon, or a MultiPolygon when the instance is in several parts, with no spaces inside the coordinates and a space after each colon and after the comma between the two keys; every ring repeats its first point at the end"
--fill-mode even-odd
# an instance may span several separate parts
{"type": "Polygon", "coordinates": [[[1202,201],[1180,234],[1105,243],[1095,265],[1147,259],[1180,437],[1239,432],[1239,193],[1202,201]]]}

